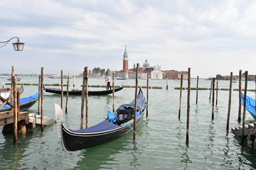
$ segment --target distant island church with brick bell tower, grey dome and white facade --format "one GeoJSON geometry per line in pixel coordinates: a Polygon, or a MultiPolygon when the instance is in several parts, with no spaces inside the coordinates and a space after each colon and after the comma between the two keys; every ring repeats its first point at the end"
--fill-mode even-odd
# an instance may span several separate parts
{"type": "MultiPolygon", "coordinates": [[[[135,79],[136,77],[136,65],[134,63],[133,69],[128,67],[128,53],[127,46],[125,45],[124,55],[123,55],[123,69],[121,71],[115,71],[114,77],[124,78],[124,79],[135,79]]],[[[149,62],[145,60],[142,67],[139,66],[138,77],[139,79],[147,79],[149,74],[150,79],[163,79],[163,72],[159,65],[150,66],[149,62]]]]}

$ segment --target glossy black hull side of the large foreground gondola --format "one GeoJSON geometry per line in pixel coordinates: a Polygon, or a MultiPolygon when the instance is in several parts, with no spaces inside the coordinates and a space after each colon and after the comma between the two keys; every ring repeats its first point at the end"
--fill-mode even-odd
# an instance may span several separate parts
{"type": "MultiPolygon", "coordinates": [[[[137,124],[139,125],[142,122],[142,115],[137,118],[137,124]]],[[[133,120],[127,122],[131,127],[133,127],[133,120]]],[[[88,147],[94,147],[97,145],[101,145],[106,142],[110,142],[112,140],[116,140],[119,137],[127,134],[131,131],[131,127],[127,125],[121,125],[119,128],[115,128],[114,130],[109,130],[105,132],[95,132],[95,133],[79,133],[73,132],[72,130],[68,130],[65,128],[65,125],[61,125],[62,127],[62,144],[63,148],[67,152],[73,152],[80,149],[86,149],[88,147]]]]}

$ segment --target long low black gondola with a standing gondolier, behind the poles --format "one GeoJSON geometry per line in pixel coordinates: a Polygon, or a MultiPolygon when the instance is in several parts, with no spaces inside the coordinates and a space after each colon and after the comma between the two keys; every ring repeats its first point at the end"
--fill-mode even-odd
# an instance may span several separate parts
{"type": "MultiPolygon", "coordinates": [[[[122,90],[123,87],[119,87],[114,89],[114,92],[122,90]]],[[[53,93],[53,94],[61,94],[61,90],[57,88],[46,88],[46,92],[53,93]]],[[[100,96],[100,95],[107,95],[112,94],[112,90],[105,90],[105,91],[88,91],[88,95],[90,96],[100,96]]],[[[63,94],[66,95],[67,91],[63,91],[63,94]]],[[[81,90],[72,90],[68,91],[68,95],[82,95],[81,90]]]]}

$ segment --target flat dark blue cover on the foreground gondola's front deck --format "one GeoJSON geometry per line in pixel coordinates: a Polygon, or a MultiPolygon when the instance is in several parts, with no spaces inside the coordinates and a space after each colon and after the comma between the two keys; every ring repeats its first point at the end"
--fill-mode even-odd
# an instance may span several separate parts
{"type": "Polygon", "coordinates": [[[82,130],[71,130],[72,132],[80,132],[80,133],[92,133],[92,132],[105,132],[107,130],[114,130],[120,128],[118,125],[114,125],[107,120],[102,121],[101,123],[94,125],[90,128],[82,129],[82,130]]]}

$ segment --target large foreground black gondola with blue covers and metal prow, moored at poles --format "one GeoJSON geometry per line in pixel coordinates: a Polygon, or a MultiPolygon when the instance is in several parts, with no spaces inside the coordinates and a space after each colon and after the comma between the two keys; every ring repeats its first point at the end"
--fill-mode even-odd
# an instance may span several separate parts
{"type": "MultiPolygon", "coordinates": [[[[144,109],[146,108],[146,98],[139,90],[137,95],[137,123],[141,123],[144,109]]],[[[82,130],[69,130],[62,122],[62,110],[55,104],[55,116],[60,127],[61,142],[67,152],[73,152],[88,147],[101,145],[110,142],[133,130],[134,125],[134,100],[129,104],[123,104],[114,113],[108,112],[107,120],[98,123],[90,128],[82,130]]]]}

